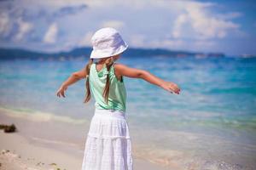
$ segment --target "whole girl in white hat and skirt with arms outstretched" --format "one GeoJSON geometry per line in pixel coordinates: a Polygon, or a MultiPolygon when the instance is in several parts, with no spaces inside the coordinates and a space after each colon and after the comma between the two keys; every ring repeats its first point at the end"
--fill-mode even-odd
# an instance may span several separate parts
{"type": "Polygon", "coordinates": [[[73,72],[57,91],[58,97],[74,82],[86,78],[86,97],[93,94],[95,113],[90,122],[84,149],[82,170],[132,170],[131,138],[126,122],[126,91],[123,77],[141,78],[168,92],[180,88],[143,71],[116,63],[128,45],[113,28],[102,28],[91,38],[93,50],[84,69],[73,72]]]}

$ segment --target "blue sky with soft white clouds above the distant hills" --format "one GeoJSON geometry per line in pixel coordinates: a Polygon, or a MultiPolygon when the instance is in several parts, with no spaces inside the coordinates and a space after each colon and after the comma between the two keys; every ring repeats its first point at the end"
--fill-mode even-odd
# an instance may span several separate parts
{"type": "Polygon", "coordinates": [[[1,0],[0,47],[44,52],[91,47],[102,27],[131,48],[256,54],[256,3],[249,0],[1,0]]]}

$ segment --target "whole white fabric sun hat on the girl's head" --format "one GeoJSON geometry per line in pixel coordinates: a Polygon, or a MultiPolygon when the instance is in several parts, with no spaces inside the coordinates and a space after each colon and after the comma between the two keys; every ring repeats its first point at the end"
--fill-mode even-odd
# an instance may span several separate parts
{"type": "Polygon", "coordinates": [[[102,28],[91,37],[93,50],[90,59],[101,59],[116,54],[121,54],[128,48],[119,31],[111,27],[102,28]]]}

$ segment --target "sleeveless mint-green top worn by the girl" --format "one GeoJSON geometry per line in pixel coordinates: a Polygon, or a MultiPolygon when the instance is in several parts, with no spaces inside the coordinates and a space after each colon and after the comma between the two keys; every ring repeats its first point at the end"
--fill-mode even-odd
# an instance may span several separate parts
{"type": "MultiPolygon", "coordinates": [[[[114,65],[115,63],[113,63],[114,65]]],[[[103,65],[101,71],[96,71],[96,63],[90,65],[90,92],[93,94],[94,99],[96,99],[95,106],[97,109],[105,110],[119,110],[125,112],[126,106],[126,90],[125,83],[122,77],[121,81],[114,74],[114,66],[111,65],[110,70],[107,70],[106,65],[103,65]],[[102,96],[107,75],[109,74],[109,94],[108,94],[108,105],[102,96]]]]}

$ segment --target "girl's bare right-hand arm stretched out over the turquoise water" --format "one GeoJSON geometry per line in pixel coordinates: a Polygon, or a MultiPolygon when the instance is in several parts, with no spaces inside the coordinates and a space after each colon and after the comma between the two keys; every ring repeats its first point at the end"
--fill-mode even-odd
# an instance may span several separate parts
{"type": "Polygon", "coordinates": [[[175,84],[174,82],[166,82],[160,79],[159,77],[155,77],[153,74],[151,74],[148,71],[131,68],[119,63],[115,64],[114,68],[118,75],[131,77],[131,78],[142,78],[145,81],[150,82],[156,86],[159,86],[160,88],[164,88],[171,93],[172,92],[174,92],[175,94],[180,93],[180,88],[178,88],[177,84],[175,84]]]}

